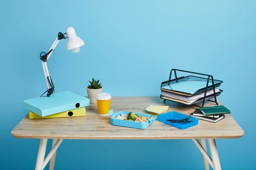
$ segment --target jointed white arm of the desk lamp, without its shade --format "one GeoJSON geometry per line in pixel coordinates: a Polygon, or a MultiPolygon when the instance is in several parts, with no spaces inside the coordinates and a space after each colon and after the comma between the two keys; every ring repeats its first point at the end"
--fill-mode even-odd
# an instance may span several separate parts
{"type": "MultiPolygon", "coordinates": [[[[66,33],[65,33],[66,34],[66,33]]],[[[42,65],[43,65],[43,69],[44,69],[44,77],[46,79],[46,84],[47,84],[47,96],[50,96],[51,94],[54,94],[54,85],[53,85],[53,82],[52,82],[52,78],[51,76],[49,75],[49,71],[48,71],[48,67],[47,67],[47,61],[49,59],[49,57],[52,55],[52,52],[55,50],[56,46],[58,45],[58,42],[62,39],[66,39],[67,37],[65,37],[64,35],[65,34],[62,34],[61,32],[58,33],[58,37],[56,38],[56,40],[53,42],[51,48],[49,49],[48,53],[41,56],[40,54],[40,59],[41,59],[41,62],[42,62],[42,65]]]]}

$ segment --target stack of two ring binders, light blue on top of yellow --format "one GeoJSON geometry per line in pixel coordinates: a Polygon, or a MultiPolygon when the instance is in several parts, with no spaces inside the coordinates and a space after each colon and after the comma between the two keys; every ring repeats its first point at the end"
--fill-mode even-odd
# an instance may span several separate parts
{"type": "Polygon", "coordinates": [[[88,105],[90,99],[70,91],[23,101],[23,106],[29,110],[29,119],[85,116],[88,105]]]}

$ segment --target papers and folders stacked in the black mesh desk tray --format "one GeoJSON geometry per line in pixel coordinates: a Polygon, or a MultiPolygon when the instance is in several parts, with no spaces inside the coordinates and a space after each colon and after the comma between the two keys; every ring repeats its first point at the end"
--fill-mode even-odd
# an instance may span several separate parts
{"type": "MultiPolygon", "coordinates": [[[[165,85],[160,88],[162,99],[171,100],[174,102],[180,102],[186,105],[193,105],[204,100],[205,88],[207,82],[200,79],[194,79],[189,77],[185,81],[175,82],[170,85],[165,85]]],[[[218,87],[220,83],[216,83],[215,87],[218,87]]],[[[206,99],[214,97],[214,91],[212,89],[212,83],[209,82],[206,94],[206,99]]],[[[222,90],[215,88],[215,95],[220,95],[222,90]]]]}

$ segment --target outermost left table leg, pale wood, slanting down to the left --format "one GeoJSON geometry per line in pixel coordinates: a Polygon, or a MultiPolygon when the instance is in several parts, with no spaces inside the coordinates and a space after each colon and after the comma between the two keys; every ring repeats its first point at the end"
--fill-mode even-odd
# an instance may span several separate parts
{"type": "Polygon", "coordinates": [[[35,170],[43,170],[44,156],[48,139],[41,139],[38,149],[38,157],[36,159],[35,170]]]}

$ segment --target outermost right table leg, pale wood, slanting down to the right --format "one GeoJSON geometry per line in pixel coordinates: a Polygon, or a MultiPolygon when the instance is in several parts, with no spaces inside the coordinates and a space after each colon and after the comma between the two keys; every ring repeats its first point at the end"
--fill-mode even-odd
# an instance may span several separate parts
{"type": "Polygon", "coordinates": [[[208,143],[211,151],[214,170],[221,170],[221,163],[218,157],[218,151],[217,151],[215,139],[208,139],[208,143]]]}

